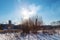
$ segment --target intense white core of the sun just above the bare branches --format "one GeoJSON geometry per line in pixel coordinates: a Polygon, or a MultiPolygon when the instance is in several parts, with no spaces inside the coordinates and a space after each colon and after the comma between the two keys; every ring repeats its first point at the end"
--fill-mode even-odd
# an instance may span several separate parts
{"type": "Polygon", "coordinates": [[[21,13],[24,20],[29,19],[29,17],[31,17],[34,14],[33,10],[27,8],[22,8],[21,13]]]}

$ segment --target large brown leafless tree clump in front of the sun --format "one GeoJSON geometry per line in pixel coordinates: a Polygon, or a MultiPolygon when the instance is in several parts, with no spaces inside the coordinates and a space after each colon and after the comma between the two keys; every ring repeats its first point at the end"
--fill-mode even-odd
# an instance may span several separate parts
{"type": "Polygon", "coordinates": [[[43,21],[42,19],[39,19],[38,16],[29,18],[28,20],[25,20],[22,23],[23,30],[26,33],[29,33],[30,31],[36,33],[38,30],[38,27],[42,24],[43,24],[43,21]]]}

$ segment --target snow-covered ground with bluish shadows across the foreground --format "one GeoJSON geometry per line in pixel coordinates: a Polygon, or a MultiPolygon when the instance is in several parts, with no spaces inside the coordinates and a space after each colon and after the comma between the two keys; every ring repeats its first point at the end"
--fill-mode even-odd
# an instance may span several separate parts
{"type": "Polygon", "coordinates": [[[0,33],[0,40],[60,40],[60,34],[27,34],[21,36],[21,33],[0,33]]]}

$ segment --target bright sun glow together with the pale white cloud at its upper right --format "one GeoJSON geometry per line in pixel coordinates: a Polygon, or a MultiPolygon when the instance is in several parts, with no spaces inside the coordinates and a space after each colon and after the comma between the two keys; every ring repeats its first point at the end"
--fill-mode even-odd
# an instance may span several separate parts
{"type": "Polygon", "coordinates": [[[39,6],[29,5],[27,7],[21,8],[21,14],[23,20],[29,19],[31,16],[35,15],[39,9],[39,6]]]}

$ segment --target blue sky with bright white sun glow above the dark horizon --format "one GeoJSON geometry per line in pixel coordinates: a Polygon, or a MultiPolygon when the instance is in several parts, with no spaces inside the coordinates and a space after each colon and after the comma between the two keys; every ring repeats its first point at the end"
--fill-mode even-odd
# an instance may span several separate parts
{"type": "Polygon", "coordinates": [[[17,23],[35,14],[42,16],[45,24],[60,20],[60,0],[0,0],[0,23],[17,23]]]}

